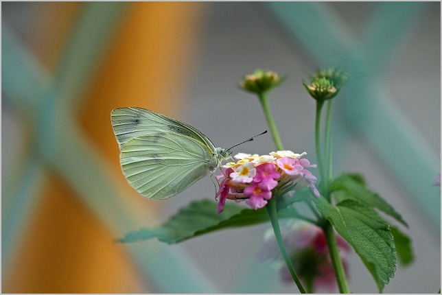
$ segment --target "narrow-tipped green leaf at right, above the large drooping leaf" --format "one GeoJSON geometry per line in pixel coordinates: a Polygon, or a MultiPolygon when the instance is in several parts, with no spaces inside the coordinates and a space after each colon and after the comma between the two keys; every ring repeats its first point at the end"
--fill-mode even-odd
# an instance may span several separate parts
{"type": "Polygon", "coordinates": [[[408,224],[395,209],[377,193],[365,186],[364,179],[358,174],[341,174],[329,186],[338,201],[353,199],[378,209],[408,227],[408,224]]]}

